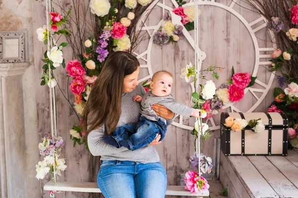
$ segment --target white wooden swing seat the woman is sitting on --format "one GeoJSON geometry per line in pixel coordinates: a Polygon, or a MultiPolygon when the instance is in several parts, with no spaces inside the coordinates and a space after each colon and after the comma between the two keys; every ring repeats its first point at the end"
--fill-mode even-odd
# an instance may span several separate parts
{"type": "MultiPolygon", "coordinates": [[[[84,193],[101,193],[97,183],[92,182],[57,182],[54,186],[52,181],[49,181],[44,186],[45,191],[72,191],[84,193]]],[[[209,197],[209,191],[204,190],[202,193],[193,193],[184,190],[184,186],[167,186],[165,195],[175,196],[192,196],[192,197],[209,197]]]]}

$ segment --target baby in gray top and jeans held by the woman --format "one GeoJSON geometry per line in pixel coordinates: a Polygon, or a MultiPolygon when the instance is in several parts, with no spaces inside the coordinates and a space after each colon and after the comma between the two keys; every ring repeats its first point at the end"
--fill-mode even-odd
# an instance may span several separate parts
{"type": "Polygon", "coordinates": [[[103,138],[104,142],[117,148],[126,147],[130,150],[136,150],[149,145],[155,139],[156,134],[161,136],[159,140],[161,141],[166,133],[166,120],[157,116],[151,108],[151,105],[155,103],[164,105],[176,114],[200,117],[200,109],[190,108],[173,99],[171,95],[172,84],[173,77],[169,72],[158,71],[154,73],[150,82],[151,91],[143,97],[139,95],[134,97],[134,101],[141,102],[139,122],[117,128],[112,136],[103,138]]]}

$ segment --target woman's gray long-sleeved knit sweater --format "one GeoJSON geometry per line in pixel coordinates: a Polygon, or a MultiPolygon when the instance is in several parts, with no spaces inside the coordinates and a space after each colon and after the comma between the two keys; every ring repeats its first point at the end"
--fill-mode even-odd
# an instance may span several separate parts
{"type": "MultiPolygon", "coordinates": [[[[144,96],[146,93],[142,85],[130,93],[122,94],[121,116],[117,127],[128,123],[138,123],[140,117],[141,105],[133,101],[134,96],[144,96]]],[[[175,116],[174,116],[175,118],[175,116]]],[[[174,120],[167,120],[167,125],[174,120]]],[[[159,156],[154,146],[146,146],[134,151],[125,147],[115,148],[103,141],[104,126],[101,126],[90,132],[88,135],[88,147],[92,155],[100,155],[102,160],[121,160],[121,161],[138,161],[141,163],[152,163],[159,160],[159,156]]]]}

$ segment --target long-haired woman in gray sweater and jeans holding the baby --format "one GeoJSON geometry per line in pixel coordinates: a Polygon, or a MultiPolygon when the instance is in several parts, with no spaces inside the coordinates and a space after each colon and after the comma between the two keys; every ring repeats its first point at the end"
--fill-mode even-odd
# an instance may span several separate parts
{"type": "MultiPolygon", "coordinates": [[[[164,198],[166,173],[154,145],[160,135],[148,146],[135,151],[115,148],[104,143],[104,135],[122,125],[137,123],[141,105],[133,101],[143,96],[145,89],[138,85],[140,63],[124,51],[112,53],[92,86],[83,111],[83,128],[87,132],[92,155],[101,156],[97,184],[106,198],[164,198]]],[[[162,105],[152,106],[157,115],[171,124],[174,113],[162,105]]]]}

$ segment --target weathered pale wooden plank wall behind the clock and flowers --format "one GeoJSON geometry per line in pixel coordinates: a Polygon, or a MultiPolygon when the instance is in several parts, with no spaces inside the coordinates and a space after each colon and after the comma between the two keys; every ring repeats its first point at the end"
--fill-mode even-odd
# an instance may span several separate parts
{"type": "MultiPolygon", "coordinates": [[[[188,1],[188,0],[187,0],[188,1]]],[[[55,1],[57,2],[57,0],[55,1]]],[[[60,0],[63,3],[65,9],[73,3],[71,0],[60,0]]],[[[163,0],[160,0],[162,3],[163,0]]],[[[165,4],[169,7],[173,7],[170,0],[164,0],[165,4]]],[[[231,0],[216,0],[229,5],[231,0]]],[[[241,6],[249,7],[245,2],[239,2],[241,6]]],[[[45,19],[45,7],[44,0],[38,2],[32,1],[33,12],[33,29],[42,27],[46,23],[45,19]]],[[[55,5],[54,5],[55,7],[55,5]]],[[[57,6],[56,6],[57,7],[57,6]]],[[[235,72],[250,72],[252,73],[254,68],[254,47],[252,40],[249,36],[249,32],[244,25],[233,14],[225,11],[222,8],[213,6],[201,6],[202,14],[200,16],[200,49],[207,53],[207,58],[203,62],[203,68],[207,68],[210,65],[217,65],[224,67],[222,73],[219,72],[220,80],[216,81],[209,74],[208,79],[212,79],[219,87],[221,83],[225,82],[227,78],[231,76],[232,66],[235,72]]],[[[250,7],[251,8],[251,7],[250,7]]],[[[234,9],[238,12],[245,14],[245,18],[248,22],[254,21],[259,18],[256,13],[249,12],[247,9],[235,4],[234,9]]],[[[56,8],[55,10],[58,10],[56,8]]],[[[148,25],[156,25],[162,18],[162,9],[155,7],[149,16],[147,22],[148,25]]],[[[194,31],[190,34],[194,36],[194,31]]],[[[258,42],[260,47],[271,47],[265,29],[257,33],[258,42]]],[[[146,49],[148,41],[144,41],[136,52],[140,52],[146,49]]],[[[35,59],[35,79],[37,84],[37,106],[38,106],[38,133],[41,139],[45,133],[50,134],[50,119],[49,119],[49,102],[48,102],[48,89],[47,87],[38,86],[40,81],[38,80],[42,71],[42,62],[40,59],[43,57],[45,46],[37,40],[37,36],[34,35],[34,59],[35,59]]],[[[73,54],[70,48],[64,50],[64,57],[67,61],[72,59],[73,54]]],[[[158,70],[167,70],[173,74],[174,88],[172,94],[178,102],[186,105],[191,105],[191,87],[185,83],[180,76],[180,70],[185,67],[190,61],[194,62],[194,50],[185,38],[181,38],[178,43],[169,44],[167,46],[153,45],[151,49],[151,65],[153,72],[158,70]]],[[[142,63],[142,61],[141,61],[142,63]]],[[[141,75],[147,75],[148,71],[145,68],[141,70],[141,75]]],[[[64,93],[67,93],[69,83],[65,78],[66,71],[60,67],[55,71],[58,79],[58,83],[64,93]]],[[[141,78],[142,76],[140,76],[141,78]]],[[[259,69],[258,79],[262,82],[269,80],[270,73],[265,72],[264,68],[259,69]]],[[[275,83],[276,86],[276,83],[275,83]]],[[[271,103],[273,97],[273,88],[268,93],[266,99],[258,107],[257,111],[265,111],[267,106],[271,103]]],[[[71,94],[71,93],[70,93],[71,94]]],[[[71,97],[72,98],[72,97],[71,97]]],[[[73,101],[73,99],[72,99],[73,101]]],[[[248,93],[241,102],[235,104],[235,106],[245,111],[256,99],[248,93]]],[[[230,109],[228,109],[230,111],[230,109]]],[[[69,130],[74,124],[78,124],[78,120],[74,114],[73,109],[68,102],[63,98],[61,92],[57,90],[57,119],[58,119],[58,134],[66,140],[66,146],[62,150],[61,157],[66,158],[68,168],[60,178],[65,181],[91,181],[96,175],[90,175],[87,172],[90,154],[85,150],[84,146],[73,147],[70,140],[69,130]]],[[[215,116],[215,121],[219,124],[219,115],[215,116]]],[[[185,125],[194,125],[194,119],[183,118],[185,125]]],[[[208,123],[211,125],[211,123],[208,123]]],[[[214,156],[214,138],[219,138],[219,131],[212,131],[211,138],[204,143],[203,152],[208,156],[214,156]]],[[[170,126],[165,140],[162,144],[156,146],[156,149],[160,155],[160,160],[167,172],[168,185],[179,185],[180,174],[190,170],[188,158],[194,152],[194,137],[190,135],[188,130],[170,126]]],[[[43,158],[41,157],[41,160],[43,158]]],[[[50,179],[50,178],[49,178],[50,179]]],[[[48,181],[47,179],[41,180],[41,186],[48,181]]],[[[42,190],[43,191],[43,190],[42,190]]],[[[43,192],[43,197],[48,197],[47,192],[43,192]]],[[[82,193],[62,193],[58,194],[58,197],[67,198],[85,198],[88,194],[82,193]]]]}

